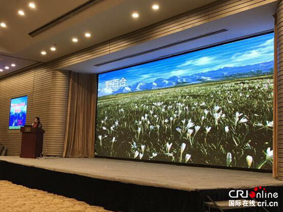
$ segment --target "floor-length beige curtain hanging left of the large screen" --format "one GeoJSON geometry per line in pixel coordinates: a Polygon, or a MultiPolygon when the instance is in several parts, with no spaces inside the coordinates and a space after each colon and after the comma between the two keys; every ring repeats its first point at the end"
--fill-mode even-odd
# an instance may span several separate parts
{"type": "Polygon", "coordinates": [[[72,72],[63,157],[93,158],[96,75],[72,72]]]}

